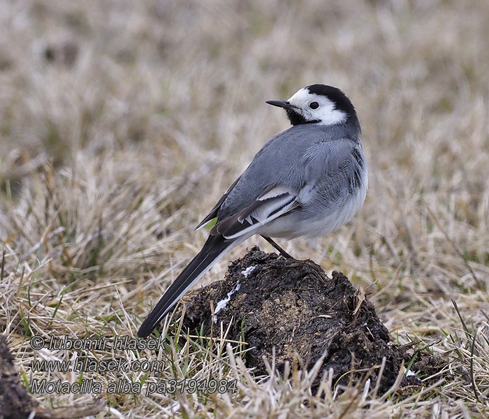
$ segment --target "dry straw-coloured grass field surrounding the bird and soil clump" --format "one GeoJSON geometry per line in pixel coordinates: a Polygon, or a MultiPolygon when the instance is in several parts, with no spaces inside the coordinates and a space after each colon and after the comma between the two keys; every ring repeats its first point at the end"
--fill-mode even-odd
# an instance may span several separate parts
{"type": "MultiPolygon", "coordinates": [[[[489,416],[488,1],[0,6],[0,328],[26,385],[143,385],[141,395],[103,392],[97,418],[489,416]],[[265,101],[313,83],[340,87],[356,106],[369,191],[337,233],[278,242],[362,286],[393,342],[446,361],[420,377],[431,387],[407,398],[374,383],[339,392],[325,376],[318,394],[314,371],[255,376],[245,344],[198,337],[167,351],[88,352],[164,360],[159,373],[33,371],[32,360],[85,355],[35,351],[34,335],[136,335],[205,241],[194,226],[289,126],[265,101]],[[237,391],[145,397],[149,383],[210,376],[236,379],[237,391]]],[[[254,244],[273,251],[252,237],[199,286],[254,244]]],[[[48,407],[96,400],[34,397],[48,407]]]]}

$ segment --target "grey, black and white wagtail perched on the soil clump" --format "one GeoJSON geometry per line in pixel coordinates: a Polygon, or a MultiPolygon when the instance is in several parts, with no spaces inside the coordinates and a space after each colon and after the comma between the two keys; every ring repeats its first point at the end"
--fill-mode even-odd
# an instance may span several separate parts
{"type": "Polygon", "coordinates": [[[189,288],[224,254],[261,235],[317,237],[350,221],[367,194],[367,162],[358,116],[337,87],[312,84],[286,101],[291,127],[272,137],[196,230],[217,219],[198,254],[168,287],[138,330],[149,336],[189,288]]]}

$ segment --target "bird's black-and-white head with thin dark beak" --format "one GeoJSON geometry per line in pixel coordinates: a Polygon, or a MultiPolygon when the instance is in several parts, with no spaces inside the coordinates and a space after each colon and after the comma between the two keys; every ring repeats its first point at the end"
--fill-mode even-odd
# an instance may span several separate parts
{"type": "Polygon", "coordinates": [[[337,87],[312,84],[295,93],[288,101],[267,101],[284,108],[292,125],[358,124],[355,108],[349,98],[337,87]]]}

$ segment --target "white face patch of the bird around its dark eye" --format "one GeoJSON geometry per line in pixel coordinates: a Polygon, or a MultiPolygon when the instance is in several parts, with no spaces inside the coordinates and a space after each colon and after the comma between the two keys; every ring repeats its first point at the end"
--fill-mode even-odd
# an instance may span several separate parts
{"type": "Polygon", "coordinates": [[[289,103],[295,106],[295,111],[299,112],[307,121],[319,121],[323,125],[334,125],[342,124],[347,118],[346,113],[335,109],[335,104],[326,96],[309,93],[306,88],[295,93],[289,99],[289,103]],[[317,108],[316,104],[319,105],[317,108]]]}

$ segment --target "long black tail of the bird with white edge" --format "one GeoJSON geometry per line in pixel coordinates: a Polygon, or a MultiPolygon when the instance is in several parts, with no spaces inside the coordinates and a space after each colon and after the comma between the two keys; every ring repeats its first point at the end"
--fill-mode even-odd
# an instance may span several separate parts
{"type": "Polygon", "coordinates": [[[200,250],[197,256],[191,260],[191,263],[185,267],[184,270],[178,275],[177,279],[173,281],[159,302],[149,312],[145,321],[141,324],[138,330],[139,337],[147,337],[155,326],[161,321],[161,319],[173,308],[173,306],[180,300],[180,297],[187,292],[187,290],[194,285],[200,277],[205,274],[214,263],[219,260],[221,256],[226,253],[232,247],[235,247],[238,243],[235,240],[226,240],[221,235],[210,235],[205,242],[202,250],[200,250]]]}

